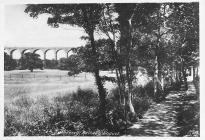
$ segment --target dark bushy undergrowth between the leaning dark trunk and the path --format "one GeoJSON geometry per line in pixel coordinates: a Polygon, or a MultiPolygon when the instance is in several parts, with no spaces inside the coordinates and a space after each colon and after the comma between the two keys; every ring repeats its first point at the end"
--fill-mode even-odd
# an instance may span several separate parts
{"type": "Polygon", "coordinates": [[[152,100],[145,90],[144,92],[142,90],[144,88],[135,88],[133,90],[132,102],[136,116],[131,116],[130,113],[127,113],[127,117],[125,117],[125,107],[119,101],[119,89],[115,88],[110,92],[107,105],[107,120],[110,131],[120,132],[120,135],[125,134],[126,128],[129,127],[131,121],[136,121],[149,108],[152,100]]]}

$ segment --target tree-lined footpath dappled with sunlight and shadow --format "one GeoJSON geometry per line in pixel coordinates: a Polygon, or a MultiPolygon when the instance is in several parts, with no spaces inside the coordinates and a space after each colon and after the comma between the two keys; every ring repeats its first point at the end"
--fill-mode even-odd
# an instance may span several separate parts
{"type": "Polygon", "coordinates": [[[187,91],[171,91],[165,101],[152,104],[143,119],[129,128],[128,135],[185,136],[191,129],[197,130],[199,100],[193,83],[188,86],[187,91]]]}

